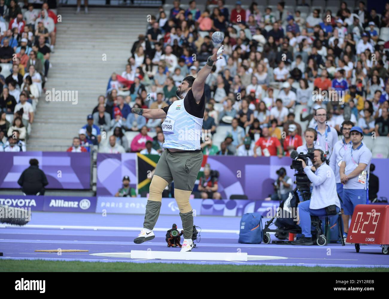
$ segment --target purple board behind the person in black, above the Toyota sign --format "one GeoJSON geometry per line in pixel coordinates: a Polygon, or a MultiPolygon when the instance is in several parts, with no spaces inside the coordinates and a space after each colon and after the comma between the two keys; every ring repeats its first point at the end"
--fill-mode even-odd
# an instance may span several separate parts
{"type": "Polygon", "coordinates": [[[0,153],[0,188],[20,189],[18,179],[35,158],[44,171],[49,185],[46,189],[90,189],[89,153],[26,151],[0,153]]]}

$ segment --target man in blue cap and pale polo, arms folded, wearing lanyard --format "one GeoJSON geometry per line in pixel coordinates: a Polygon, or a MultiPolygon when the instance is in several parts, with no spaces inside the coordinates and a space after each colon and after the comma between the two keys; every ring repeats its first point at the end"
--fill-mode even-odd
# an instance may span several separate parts
{"type": "MultiPolygon", "coordinates": [[[[350,130],[352,146],[347,149],[340,165],[340,181],[343,183],[343,209],[352,216],[357,204],[367,204],[371,151],[363,144],[360,127],[350,130]]],[[[344,228],[348,232],[348,225],[344,228]]]]}

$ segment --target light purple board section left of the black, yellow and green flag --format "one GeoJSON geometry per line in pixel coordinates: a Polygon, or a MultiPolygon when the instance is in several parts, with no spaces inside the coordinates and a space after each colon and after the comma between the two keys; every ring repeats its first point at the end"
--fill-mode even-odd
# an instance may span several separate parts
{"type": "Polygon", "coordinates": [[[130,177],[130,186],[137,189],[137,154],[97,155],[97,194],[112,196],[122,187],[124,176],[130,177]]]}

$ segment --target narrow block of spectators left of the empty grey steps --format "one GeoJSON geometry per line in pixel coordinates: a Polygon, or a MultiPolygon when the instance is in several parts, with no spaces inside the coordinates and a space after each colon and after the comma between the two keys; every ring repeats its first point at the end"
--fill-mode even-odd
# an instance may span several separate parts
{"type": "Polygon", "coordinates": [[[21,5],[0,1],[0,151],[6,152],[26,151],[58,23],[47,3],[21,5]]]}

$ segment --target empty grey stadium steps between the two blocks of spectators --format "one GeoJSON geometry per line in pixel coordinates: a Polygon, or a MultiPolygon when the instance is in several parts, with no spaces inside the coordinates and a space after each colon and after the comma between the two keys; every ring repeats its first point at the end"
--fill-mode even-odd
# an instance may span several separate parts
{"type": "Polygon", "coordinates": [[[86,116],[105,95],[112,72],[121,74],[133,42],[145,34],[147,14],[155,8],[90,8],[76,15],[75,8],[60,7],[53,67],[47,90],[78,91],[78,104],[47,102],[42,92],[32,125],[28,151],[65,151],[86,124],[86,116]],[[106,61],[103,61],[103,55],[106,61]]]}

